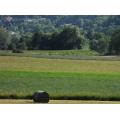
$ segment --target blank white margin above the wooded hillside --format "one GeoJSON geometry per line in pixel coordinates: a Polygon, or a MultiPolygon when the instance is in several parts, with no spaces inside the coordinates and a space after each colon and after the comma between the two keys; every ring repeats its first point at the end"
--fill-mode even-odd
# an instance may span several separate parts
{"type": "Polygon", "coordinates": [[[0,0],[1,15],[118,15],[119,0],[0,0]]]}

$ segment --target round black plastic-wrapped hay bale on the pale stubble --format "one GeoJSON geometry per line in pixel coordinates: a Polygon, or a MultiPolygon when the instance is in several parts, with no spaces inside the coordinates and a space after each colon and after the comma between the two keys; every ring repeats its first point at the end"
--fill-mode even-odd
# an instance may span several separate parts
{"type": "Polygon", "coordinates": [[[33,94],[33,101],[38,103],[48,103],[49,94],[45,91],[37,91],[33,94]]]}

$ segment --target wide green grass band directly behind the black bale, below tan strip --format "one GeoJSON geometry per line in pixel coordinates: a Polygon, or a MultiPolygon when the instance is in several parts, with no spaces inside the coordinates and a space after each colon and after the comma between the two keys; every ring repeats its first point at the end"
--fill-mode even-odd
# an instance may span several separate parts
{"type": "Polygon", "coordinates": [[[120,74],[0,72],[0,98],[31,99],[37,90],[51,99],[120,100],[120,74]]]}

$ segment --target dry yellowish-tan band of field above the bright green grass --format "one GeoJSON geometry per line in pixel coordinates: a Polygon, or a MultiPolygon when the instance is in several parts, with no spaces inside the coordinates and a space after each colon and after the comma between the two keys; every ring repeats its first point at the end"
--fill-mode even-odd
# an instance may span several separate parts
{"type": "Polygon", "coordinates": [[[0,70],[33,72],[120,73],[120,61],[66,60],[0,56],[0,70]]]}

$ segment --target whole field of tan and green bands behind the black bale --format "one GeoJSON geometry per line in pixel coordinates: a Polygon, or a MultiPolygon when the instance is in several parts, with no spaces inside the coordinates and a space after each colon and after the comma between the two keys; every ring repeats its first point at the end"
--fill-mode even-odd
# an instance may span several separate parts
{"type": "Polygon", "coordinates": [[[120,100],[119,60],[71,60],[0,56],[0,98],[120,100]]]}

